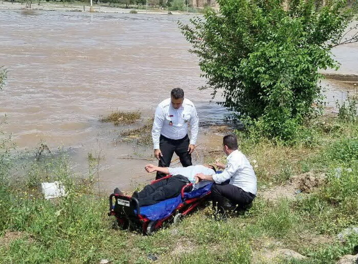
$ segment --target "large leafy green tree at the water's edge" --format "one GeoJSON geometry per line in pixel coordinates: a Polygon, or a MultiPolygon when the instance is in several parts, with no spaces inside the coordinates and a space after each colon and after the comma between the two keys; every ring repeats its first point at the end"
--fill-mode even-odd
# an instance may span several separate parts
{"type": "MultiPolygon", "coordinates": [[[[331,48],[352,18],[344,1],[218,0],[180,29],[199,57],[205,88],[260,135],[289,140],[321,98],[319,69],[337,68],[331,48]]],[[[356,41],[355,39],[351,39],[356,41]]]]}

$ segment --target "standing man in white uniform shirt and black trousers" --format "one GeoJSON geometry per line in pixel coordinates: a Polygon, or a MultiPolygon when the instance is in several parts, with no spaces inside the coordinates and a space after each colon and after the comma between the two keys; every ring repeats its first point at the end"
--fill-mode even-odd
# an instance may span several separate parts
{"type": "MultiPolygon", "coordinates": [[[[191,153],[194,151],[199,119],[194,104],[184,98],[181,88],[174,88],[170,98],[156,107],[152,129],[154,156],[159,160],[159,167],[169,167],[175,152],[183,167],[191,166],[191,153]],[[188,124],[191,136],[188,136],[188,124]]],[[[156,172],[156,179],[164,177],[164,173],[156,172]]]]}

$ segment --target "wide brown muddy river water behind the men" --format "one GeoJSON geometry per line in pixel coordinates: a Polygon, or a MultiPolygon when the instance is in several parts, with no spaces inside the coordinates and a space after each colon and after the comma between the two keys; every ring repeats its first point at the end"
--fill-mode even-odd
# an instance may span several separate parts
{"type": "MultiPolygon", "coordinates": [[[[18,149],[40,142],[53,150],[63,146],[74,169],[84,174],[87,154],[100,154],[104,190],[130,189],[132,181],[152,179],[143,173],[149,161],[118,159],[148,157],[151,147],[115,144],[122,128],[99,119],[115,110],[140,110],[144,118],[151,117],[172,88],[182,87],[203,123],[222,123],[227,112],[210,102],[210,91],[197,89],[205,80],[177,29],[178,20],[188,19],[0,10],[0,66],[8,69],[0,92],[0,115],[7,115],[2,129],[12,133],[18,149]]],[[[347,52],[340,49],[338,56],[346,59],[347,52]]],[[[356,71],[352,65],[345,63],[349,73],[356,71]]],[[[340,91],[329,96],[334,93],[340,91]]],[[[200,130],[198,144],[219,144],[219,136],[205,132],[200,130]]]]}

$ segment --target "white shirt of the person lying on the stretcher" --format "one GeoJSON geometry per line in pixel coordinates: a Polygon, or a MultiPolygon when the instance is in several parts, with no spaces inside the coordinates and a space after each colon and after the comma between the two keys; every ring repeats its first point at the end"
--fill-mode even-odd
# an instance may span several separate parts
{"type": "MultiPolygon", "coordinates": [[[[215,171],[213,169],[210,169],[208,167],[205,167],[203,165],[194,165],[194,166],[188,166],[188,167],[178,167],[178,168],[170,168],[168,167],[169,174],[171,175],[183,175],[184,177],[187,177],[192,183],[195,182],[194,176],[196,173],[204,173],[205,175],[214,175],[215,171]]],[[[210,181],[208,180],[200,180],[197,184],[193,185],[194,189],[202,188],[206,185],[210,184],[210,181]]]]}

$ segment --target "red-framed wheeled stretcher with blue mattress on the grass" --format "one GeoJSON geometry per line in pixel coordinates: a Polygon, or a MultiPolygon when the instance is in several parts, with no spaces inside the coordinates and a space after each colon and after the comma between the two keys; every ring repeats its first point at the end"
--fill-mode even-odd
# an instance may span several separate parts
{"type": "MultiPolygon", "coordinates": [[[[169,177],[171,175],[153,180],[150,184],[169,177]]],[[[143,234],[150,235],[160,229],[165,221],[173,220],[174,224],[177,224],[208,198],[212,183],[189,191],[192,185],[192,183],[185,185],[176,197],[143,207],[139,207],[139,202],[135,197],[113,193],[109,196],[108,215],[114,215],[118,226],[122,229],[136,227],[143,234]]]]}

